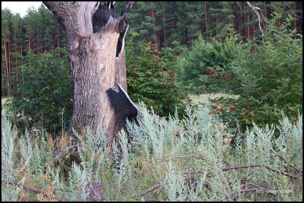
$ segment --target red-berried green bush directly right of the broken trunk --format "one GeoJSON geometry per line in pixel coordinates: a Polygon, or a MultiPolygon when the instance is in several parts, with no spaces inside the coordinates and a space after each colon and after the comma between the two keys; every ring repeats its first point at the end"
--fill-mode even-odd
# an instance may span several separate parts
{"type": "Polygon", "coordinates": [[[177,87],[175,71],[178,68],[176,56],[181,52],[178,43],[175,48],[162,48],[159,52],[155,44],[142,44],[139,55],[133,48],[133,38],[126,43],[126,70],[128,95],[132,101],[141,101],[154,109],[160,116],[179,112],[191,102],[188,95],[177,87]],[[162,56],[162,57],[161,57],[162,56]]]}

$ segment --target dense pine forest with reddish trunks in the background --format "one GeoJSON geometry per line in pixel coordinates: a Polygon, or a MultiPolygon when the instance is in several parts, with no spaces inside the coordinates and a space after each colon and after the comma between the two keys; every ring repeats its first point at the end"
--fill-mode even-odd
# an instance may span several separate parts
{"type": "MultiPolygon", "coordinates": [[[[251,3],[261,8],[268,19],[273,12],[281,14],[282,21],[288,15],[297,18],[291,29],[302,34],[302,2],[251,3]]],[[[116,11],[122,6],[123,2],[117,2],[116,11]]],[[[259,34],[257,15],[246,2],[135,2],[127,18],[130,28],[126,39],[136,32],[139,37],[135,45],[152,42],[158,49],[171,46],[174,41],[191,49],[199,34],[207,41],[214,38],[223,42],[227,24],[232,24],[243,40],[254,39],[259,34]]],[[[266,25],[262,23],[262,26],[266,25]]],[[[280,21],[277,26],[281,27],[280,21]]],[[[29,8],[24,17],[2,9],[1,35],[2,96],[11,96],[11,90],[22,83],[20,56],[30,51],[42,54],[66,44],[63,27],[43,4],[37,10],[29,8]]]]}

